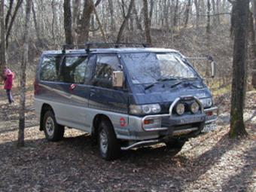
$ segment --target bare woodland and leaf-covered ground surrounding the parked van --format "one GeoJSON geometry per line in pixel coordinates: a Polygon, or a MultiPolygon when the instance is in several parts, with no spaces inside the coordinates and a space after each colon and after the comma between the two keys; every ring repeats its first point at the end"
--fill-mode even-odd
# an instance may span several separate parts
{"type": "MultiPolygon", "coordinates": [[[[256,0],[0,2],[0,68],[16,73],[14,105],[0,90],[0,190],[256,190],[256,0]],[[62,142],[46,142],[33,101],[39,56],[89,41],[148,42],[185,56],[213,56],[216,77],[206,83],[219,108],[218,129],[190,139],[175,157],[157,145],[111,163],[76,130],[62,142]],[[17,127],[25,148],[16,146],[17,127]]],[[[191,62],[207,76],[206,60],[191,62]]]]}

